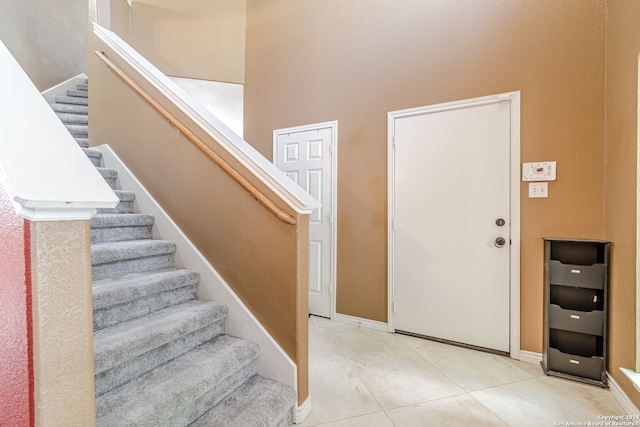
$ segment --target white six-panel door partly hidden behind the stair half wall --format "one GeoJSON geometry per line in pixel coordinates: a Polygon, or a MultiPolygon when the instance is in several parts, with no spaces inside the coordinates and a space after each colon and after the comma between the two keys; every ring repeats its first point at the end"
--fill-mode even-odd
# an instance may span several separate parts
{"type": "Polygon", "coordinates": [[[309,313],[331,318],[337,123],[274,131],[275,165],[322,203],[309,217],[309,313]]]}

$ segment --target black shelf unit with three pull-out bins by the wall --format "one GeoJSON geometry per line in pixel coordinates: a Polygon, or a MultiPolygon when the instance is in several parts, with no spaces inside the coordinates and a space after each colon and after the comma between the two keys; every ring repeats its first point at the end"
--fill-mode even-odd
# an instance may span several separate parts
{"type": "Polygon", "coordinates": [[[607,288],[611,243],[544,238],[547,375],[607,387],[607,288]]]}

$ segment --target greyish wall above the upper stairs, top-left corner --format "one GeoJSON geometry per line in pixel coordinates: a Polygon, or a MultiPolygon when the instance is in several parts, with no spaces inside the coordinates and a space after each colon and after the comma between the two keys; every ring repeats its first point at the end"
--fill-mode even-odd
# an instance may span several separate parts
{"type": "Polygon", "coordinates": [[[40,91],[87,72],[86,0],[0,0],[0,11],[0,40],[40,91]]]}

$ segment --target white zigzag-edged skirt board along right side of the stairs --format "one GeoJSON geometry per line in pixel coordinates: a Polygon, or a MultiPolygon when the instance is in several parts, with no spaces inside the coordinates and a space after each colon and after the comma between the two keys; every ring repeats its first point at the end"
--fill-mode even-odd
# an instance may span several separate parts
{"type": "Polygon", "coordinates": [[[171,240],[176,244],[178,249],[175,255],[176,267],[200,273],[198,296],[204,300],[220,302],[228,307],[227,333],[251,340],[260,346],[258,374],[297,390],[297,366],[291,358],[111,148],[108,145],[95,148],[102,152],[105,167],[118,171],[120,185],[135,193],[134,210],[155,217],[154,238],[171,240]]]}

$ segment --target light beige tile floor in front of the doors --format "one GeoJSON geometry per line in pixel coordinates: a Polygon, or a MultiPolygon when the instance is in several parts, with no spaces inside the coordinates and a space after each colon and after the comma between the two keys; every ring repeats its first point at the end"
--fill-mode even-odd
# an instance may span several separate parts
{"type": "Polygon", "coordinates": [[[624,414],[608,389],[538,364],[314,316],[309,375],[303,427],[588,425],[624,414]]]}

